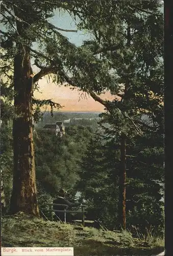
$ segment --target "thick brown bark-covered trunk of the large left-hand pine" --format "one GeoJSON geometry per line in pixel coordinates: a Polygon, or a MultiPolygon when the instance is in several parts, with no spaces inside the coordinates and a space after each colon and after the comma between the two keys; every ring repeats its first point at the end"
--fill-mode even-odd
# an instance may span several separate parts
{"type": "Polygon", "coordinates": [[[14,173],[10,212],[18,211],[39,216],[37,204],[33,125],[30,51],[19,44],[14,59],[14,106],[13,120],[14,173]]]}

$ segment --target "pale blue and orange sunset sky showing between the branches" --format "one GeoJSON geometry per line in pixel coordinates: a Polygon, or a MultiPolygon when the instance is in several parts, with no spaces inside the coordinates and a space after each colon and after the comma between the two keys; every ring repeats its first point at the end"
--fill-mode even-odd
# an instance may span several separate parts
{"type": "MultiPolygon", "coordinates": [[[[50,19],[50,22],[55,26],[63,29],[77,29],[75,23],[67,12],[56,12],[54,18],[50,19]]],[[[61,32],[68,37],[69,41],[76,46],[81,46],[83,40],[90,39],[91,35],[86,34],[84,31],[78,32],[61,32]]],[[[87,98],[82,92],[76,90],[70,90],[69,87],[63,85],[58,86],[54,83],[47,83],[45,78],[39,81],[39,92],[35,92],[34,96],[39,99],[52,99],[53,101],[60,103],[64,107],[61,111],[103,111],[104,106],[98,102],[95,102],[89,95],[87,98]]],[[[103,94],[103,99],[112,100],[114,97],[110,93],[103,94]]]]}

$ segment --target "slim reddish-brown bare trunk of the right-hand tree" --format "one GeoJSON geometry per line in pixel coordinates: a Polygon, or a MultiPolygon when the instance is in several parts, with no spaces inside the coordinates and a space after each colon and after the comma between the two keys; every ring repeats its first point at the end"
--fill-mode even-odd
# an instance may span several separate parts
{"type": "Polygon", "coordinates": [[[126,136],[121,134],[119,172],[119,225],[126,229],[126,136]]]}

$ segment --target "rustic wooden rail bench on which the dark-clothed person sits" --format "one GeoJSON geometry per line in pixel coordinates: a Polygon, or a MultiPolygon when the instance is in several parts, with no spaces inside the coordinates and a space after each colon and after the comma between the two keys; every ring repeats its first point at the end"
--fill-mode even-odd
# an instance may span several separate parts
{"type": "Polygon", "coordinates": [[[48,210],[48,211],[51,211],[52,213],[52,221],[53,221],[53,215],[54,215],[54,212],[64,212],[64,223],[66,223],[66,214],[68,212],[70,213],[80,213],[82,215],[82,225],[84,226],[85,225],[85,214],[87,213],[87,211],[85,211],[85,206],[84,205],[80,205],[81,207],[81,210],[67,210],[68,208],[68,205],[66,204],[48,204],[49,206],[51,206],[51,209],[48,210]],[[64,206],[64,210],[54,210],[53,209],[53,206],[64,206]]]}

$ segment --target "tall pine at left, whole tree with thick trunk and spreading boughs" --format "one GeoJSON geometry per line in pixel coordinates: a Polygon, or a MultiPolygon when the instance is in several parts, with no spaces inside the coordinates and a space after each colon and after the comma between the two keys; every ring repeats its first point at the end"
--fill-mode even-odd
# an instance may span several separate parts
{"type": "Polygon", "coordinates": [[[1,3],[1,46],[4,49],[2,70],[11,81],[15,108],[13,191],[10,207],[12,214],[24,211],[39,215],[33,145],[33,104],[56,104],[50,100],[40,102],[33,98],[38,80],[52,74],[53,81],[58,84],[65,82],[84,91],[89,88],[95,93],[101,93],[109,84],[114,84],[115,75],[109,73],[107,62],[93,56],[91,51],[71,44],[60,33],[69,30],[63,30],[49,22],[57,9],[69,11],[73,16],[79,12],[82,15],[84,13],[78,6],[76,10],[71,7],[71,3],[61,1],[1,3]],[[31,67],[32,60],[40,70],[35,75],[31,67]]]}

